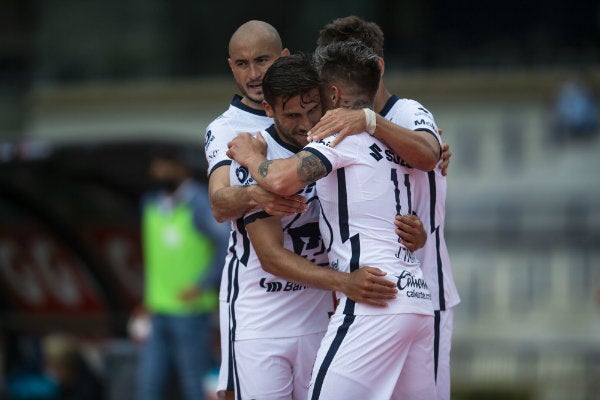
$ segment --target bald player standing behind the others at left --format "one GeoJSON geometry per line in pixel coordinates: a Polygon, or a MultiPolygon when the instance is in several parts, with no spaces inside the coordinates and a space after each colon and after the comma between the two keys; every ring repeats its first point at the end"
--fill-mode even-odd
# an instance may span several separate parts
{"type": "MultiPolygon", "coordinates": [[[[233,226],[247,210],[260,205],[273,215],[287,215],[306,209],[301,196],[280,197],[254,186],[229,185],[231,160],[225,155],[227,142],[239,132],[257,132],[270,126],[273,120],[262,106],[262,78],[269,66],[280,56],[289,54],[283,48],[277,30],[263,21],[242,24],[229,41],[227,62],[242,96],[235,95],[229,108],[206,128],[205,153],[208,161],[209,198],[213,215],[219,222],[232,220],[229,248],[237,240],[233,226]]],[[[219,318],[221,330],[221,367],[217,392],[219,398],[233,398],[233,369],[229,356],[229,308],[231,272],[238,262],[229,251],[219,291],[219,318]]]]}

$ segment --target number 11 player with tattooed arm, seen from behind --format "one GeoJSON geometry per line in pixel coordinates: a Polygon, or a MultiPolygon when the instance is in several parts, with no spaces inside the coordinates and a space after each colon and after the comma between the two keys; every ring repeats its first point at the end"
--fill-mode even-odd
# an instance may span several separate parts
{"type": "MultiPolygon", "coordinates": [[[[315,59],[326,108],[373,112],[381,69],[371,49],[338,42],[318,49],[315,59]]],[[[330,266],[345,272],[377,266],[398,288],[387,307],[339,294],[313,368],[310,398],[434,398],[431,295],[419,261],[391,229],[392,216],[413,212],[413,168],[371,135],[349,137],[336,147],[331,139],[311,143],[292,157],[269,161],[256,151],[256,141],[239,135],[228,154],[258,184],[285,195],[317,182],[330,266]]]]}

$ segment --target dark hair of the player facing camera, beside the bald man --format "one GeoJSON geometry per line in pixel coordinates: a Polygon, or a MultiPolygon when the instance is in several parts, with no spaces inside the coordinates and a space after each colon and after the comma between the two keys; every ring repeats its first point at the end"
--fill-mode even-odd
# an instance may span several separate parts
{"type": "Polygon", "coordinates": [[[277,99],[282,104],[295,96],[303,97],[319,87],[319,76],[312,59],[304,53],[280,57],[269,67],[262,81],[263,95],[272,107],[277,99]]]}

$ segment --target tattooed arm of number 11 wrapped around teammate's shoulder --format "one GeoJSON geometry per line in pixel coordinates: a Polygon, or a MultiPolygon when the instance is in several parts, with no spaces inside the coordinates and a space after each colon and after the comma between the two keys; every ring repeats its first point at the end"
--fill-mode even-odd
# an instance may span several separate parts
{"type": "Polygon", "coordinates": [[[260,140],[263,140],[260,134],[254,138],[241,133],[229,142],[227,156],[248,168],[256,183],[269,192],[289,196],[327,175],[323,162],[306,150],[289,158],[267,160],[257,150],[260,140]]]}

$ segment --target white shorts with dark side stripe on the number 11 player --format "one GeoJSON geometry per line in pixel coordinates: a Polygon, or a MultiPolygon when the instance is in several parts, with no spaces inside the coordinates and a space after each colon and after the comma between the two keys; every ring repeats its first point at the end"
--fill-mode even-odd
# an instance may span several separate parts
{"type": "Polygon", "coordinates": [[[434,398],[433,316],[333,315],[308,399],[434,398]]]}

